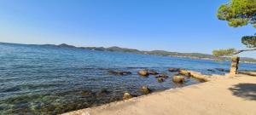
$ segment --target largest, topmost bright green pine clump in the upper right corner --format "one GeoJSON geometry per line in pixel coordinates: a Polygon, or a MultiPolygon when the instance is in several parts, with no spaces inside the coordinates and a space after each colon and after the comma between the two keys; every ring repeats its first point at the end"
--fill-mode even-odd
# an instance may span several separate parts
{"type": "Polygon", "coordinates": [[[217,16],[219,20],[227,20],[229,26],[256,27],[256,0],[230,0],[218,8],[217,16]]]}

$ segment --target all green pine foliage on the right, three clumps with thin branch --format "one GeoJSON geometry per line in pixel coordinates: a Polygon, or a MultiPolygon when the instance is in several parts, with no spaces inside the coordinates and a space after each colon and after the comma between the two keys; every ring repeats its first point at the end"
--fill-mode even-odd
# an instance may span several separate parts
{"type": "MultiPolygon", "coordinates": [[[[222,4],[218,8],[217,16],[219,20],[228,21],[229,26],[238,27],[251,24],[256,28],[256,0],[230,0],[229,3],[222,4]]],[[[255,48],[256,35],[242,37],[241,43],[245,44],[247,48],[255,48]]],[[[212,54],[216,57],[229,57],[252,50],[218,49],[213,50],[212,54]]]]}

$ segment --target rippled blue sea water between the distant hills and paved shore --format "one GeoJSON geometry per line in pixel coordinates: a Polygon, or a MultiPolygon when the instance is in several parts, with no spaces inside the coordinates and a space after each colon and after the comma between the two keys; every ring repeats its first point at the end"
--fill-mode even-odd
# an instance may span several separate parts
{"type": "MultiPolygon", "coordinates": [[[[0,114],[57,114],[119,101],[125,92],[143,95],[139,90],[143,85],[159,91],[200,83],[193,78],[184,84],[172,83],[176,72],[167,72],[169,67],[224,74],[207,69],[229,69],[230,63],[0,43],[0,114]],[[158,83],[154,76],[138,76],[141,69],[171,78],[158,83]],[[108,70],[132,74],[114,76],[108,70]]],[[[240,69],[256,70],[256,65],[241,64],[240,69]]]]}

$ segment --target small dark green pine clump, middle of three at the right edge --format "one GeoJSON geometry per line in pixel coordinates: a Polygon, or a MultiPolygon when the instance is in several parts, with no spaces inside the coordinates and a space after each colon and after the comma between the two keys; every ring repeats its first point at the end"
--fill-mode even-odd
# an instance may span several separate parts
{"type": "Polygon", "coordinates": [[[242,37],[241,43],[245,44],[247,48],[256,48],[256,36],[242,37]]]}

